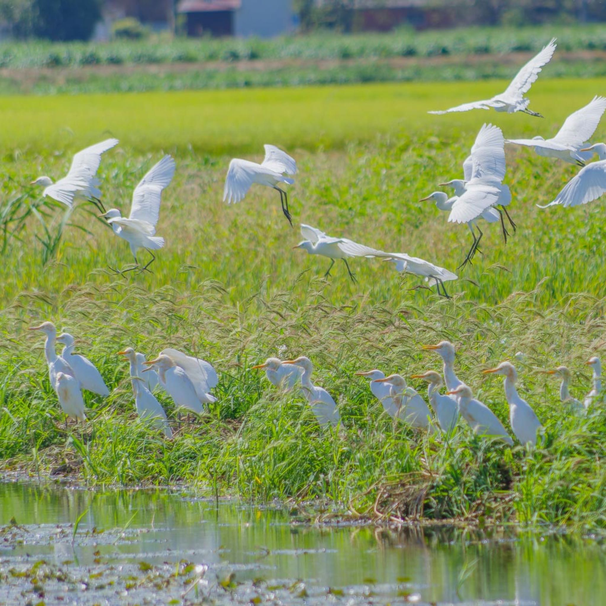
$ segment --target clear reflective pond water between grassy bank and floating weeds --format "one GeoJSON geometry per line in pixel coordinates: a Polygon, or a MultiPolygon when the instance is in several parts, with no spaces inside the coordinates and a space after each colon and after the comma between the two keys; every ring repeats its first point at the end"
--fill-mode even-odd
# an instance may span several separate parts
{"type": "Polygon", "coordinates": [[[0,544],[0,560],[33,553],[88,565],[98,550],[108,562],[187,559],[235,570],[242,580],[376,584],[394,593],[404,586],[424,602],[598,604],[606,596],[604,542],[547,531],[311,527],[293,523],[284,510],[217,506],[178,491],[0,484],[0,524],[13,516],[30,533],[22,545],[0,544]],[[72,549],[65,525],[83,511],[72,549]]]}

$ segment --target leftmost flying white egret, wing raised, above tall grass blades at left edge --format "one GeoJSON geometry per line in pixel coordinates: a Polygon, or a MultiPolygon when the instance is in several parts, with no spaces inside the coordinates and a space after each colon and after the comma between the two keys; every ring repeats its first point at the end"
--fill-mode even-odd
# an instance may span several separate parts
{"type": "Polygon", "coordinates": [[[30,185],[41,185],[44,187],[42,197],[50,196],[58,202],[62,202],[72,208],[75,198],[92,201],[100,211],[104,211],[101,203],[101,191],[97,187],[101,181],[96,178],[101,154],[118,145],[118,139],[106,139],[101,143],[91,145],[78,151],[73,157],[70,170],[64,178],[56,183],[50,177],[38,177],[30,185]]]}

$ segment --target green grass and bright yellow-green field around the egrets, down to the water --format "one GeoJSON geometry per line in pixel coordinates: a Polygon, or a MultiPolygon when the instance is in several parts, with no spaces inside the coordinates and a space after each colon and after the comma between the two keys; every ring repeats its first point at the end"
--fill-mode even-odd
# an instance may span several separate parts
{"type": "MultiPolygon", "coordinates": [[[[127,208],[132,187],[162,151],[178,159],[158,226],[167,246],[153,275],[111,276],[107,265],[130,262],[128,247],[82,206],[45,265],[35,238],[45,233],[34,217],[8,239],[0,270],[0,459],[92,484],[184,481],[249,499],[327,498],[340,511],[383,519],[603,526],[604,408],[571,418],[557,382],[535,371],[567,364],[581,398],[590,388],[584,361],[604,348],[601,202],[569,211],[535,207],[553,199],[575,167],[508,148],[518,233],[504,246],[498,229],[486,230],[484,256],[449,283],[452,301],[368,259],[353,261],[359,286],[338,267],[324,281],[328,263],[291,250],[299,234],[271,192],[251,191],[233,207],[221,202],[228,154],[255,159],[273,142],[299,162],[289,190],[296,222],[454,269],[468,246],[466,228],[417,201],[461,173],[483,119],[505,136],[547,136],[603,83],[569,81],[562,89],[539,81],[531,107],[547,116],[541,121],[425,114],[430,104],[481,98],[487,87],[0,99],[9,176],[3,213],[19,196],[23,204],[36,200],[22,184],[38,173],[61,175],[72,151],[105,133],[122,141],[102,163],[106,205],[127,208]],[[90,421],[82,434],[62,430],[41,340],[25,330],[42,318],[81,338],[79,350],[112,388],[105,401],[86,396],[90,421]],[[375,367],[407,377],[438,368],[420,345],[442,338],[459,347],[459,376],[506,425],[501,383],[480,371],[525,354],[521,393],[547,430],[539,450],[493,447],[463,426],[449,444],[415,434],[386,418],[367,382],[352,378],[375,367]],[[175,421],[175,439],[163,441],[136,422],[127,367],[116,356],[128,345],[145,353],[174,346],[209,359],[221,375],[218,403],[195,424],[175,421]],[[303,402],[277,398],[251,370],[282,346],[282,356],[305,353],[315,362],[318,383],[338,401],[341,431],[319,430],[303,402]]],[[[604,127],[596,141],[602,136],[604,127]]],[[[62,209],[45,211],[54,233],[62,209]]],[[[175,419],[170,400],[159,397],[175,419]]]]}

